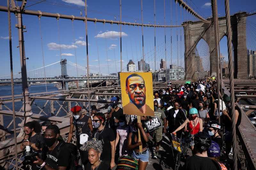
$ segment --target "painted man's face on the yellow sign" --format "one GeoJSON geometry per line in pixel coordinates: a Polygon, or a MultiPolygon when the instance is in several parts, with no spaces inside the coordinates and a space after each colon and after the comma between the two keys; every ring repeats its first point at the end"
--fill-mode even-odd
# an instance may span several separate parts
{"type": "Polygon", "coordinates": [[[130,77],[127,80],[125,91],[128,94],[130,101],[137,107],[146,103],[146,87],[143,78],[138,76],[130,77]]]}

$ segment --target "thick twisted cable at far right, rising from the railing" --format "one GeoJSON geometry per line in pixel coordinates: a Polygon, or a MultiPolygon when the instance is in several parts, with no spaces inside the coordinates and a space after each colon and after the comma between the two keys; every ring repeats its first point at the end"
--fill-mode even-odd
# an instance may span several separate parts
{"type": "Polygon", "coordinates": [[[235,116],[235,93],[234,93],[234,71],[233,71],[233,56],[232,56],[232,42],[231,42],[231,24],[229,0],[225,0],[226,24],[227,24],[227,38],[228,38],[228,70],[229,70],[229,84],[230,84],[230,98],[232,111],[232,142],[233,142],[233,169],[237,168],[237,150],[236,150],[236,116],[235,116]]]}

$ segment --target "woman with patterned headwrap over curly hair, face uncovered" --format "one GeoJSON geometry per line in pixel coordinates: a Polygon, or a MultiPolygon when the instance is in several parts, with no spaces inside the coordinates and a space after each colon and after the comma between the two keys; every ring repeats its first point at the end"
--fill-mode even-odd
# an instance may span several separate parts
{"type": "Polygon", "coordinates": [[[108,165],[100,160],[100,155],[103,150],[103,146],[100,140],[92,138],[91,140],[85,142],[83,146],[80,147],[82,151],[88,151],[89,162],[85,169],[88,170],[108,170],[108,165]]]}

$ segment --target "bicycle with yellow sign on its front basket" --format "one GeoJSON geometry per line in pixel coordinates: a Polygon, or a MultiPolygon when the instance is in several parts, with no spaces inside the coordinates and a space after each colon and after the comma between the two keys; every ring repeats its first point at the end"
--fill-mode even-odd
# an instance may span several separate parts
{"type": "Polygon", "coordinates": [[[185,157],[185,155],[188,152],[188,144],[185,142],[185,138],[181,140],[172,133],[171,133],[171,136],[172,136],[172,141],[171,141],[172,156],[175,162],[175,170],[178,170],[180,167],[180,158],[185,157]],[[178,154],[176,155],[175,158],[174,158],[173,150],[178,151],[178,154]]]}

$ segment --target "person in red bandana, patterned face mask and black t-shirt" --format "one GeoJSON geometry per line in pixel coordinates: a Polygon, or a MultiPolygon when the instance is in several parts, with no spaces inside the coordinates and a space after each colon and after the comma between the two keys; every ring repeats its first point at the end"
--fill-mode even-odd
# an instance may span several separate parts
{"type": "MultiPolygon", "coordinates": [[[[121,108],[119,108],[121,109],[121,108]]],[[[93,117],[93,126],[97,130],[93,131],[92,136],[101,140],[103,144],[103,151],[100,159],[104,161],[111,169],[115,166],[115,142],[116,138],[112,129],[105,127],[106,117],[103,113],[96,113],[93,117]]]]}

